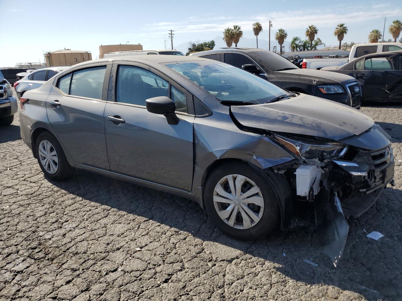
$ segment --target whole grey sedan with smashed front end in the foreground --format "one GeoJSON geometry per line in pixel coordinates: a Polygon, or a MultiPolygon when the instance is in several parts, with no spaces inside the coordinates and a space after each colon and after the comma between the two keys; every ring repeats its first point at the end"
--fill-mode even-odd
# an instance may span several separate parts
{"type": "Polygon", "coordinates": [[[49,179],[84,169],[193,199],[242,240],[317,226],[334,264],[345,216],[393,184],[391,139],[371,118],[209,59],[74,65],[24,94],[20,120],[49,179]]]}

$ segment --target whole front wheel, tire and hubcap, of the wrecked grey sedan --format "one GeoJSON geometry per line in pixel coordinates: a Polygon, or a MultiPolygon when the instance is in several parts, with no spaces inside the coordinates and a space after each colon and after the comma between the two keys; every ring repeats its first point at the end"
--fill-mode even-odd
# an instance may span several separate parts
{"type": "Polygon", "coordinates": [[[218,167],[207,179],[204,197],[211,221],[236,239],[263,238],[280,220],[271,187],[259,171],[247,165],[218,167]]]}

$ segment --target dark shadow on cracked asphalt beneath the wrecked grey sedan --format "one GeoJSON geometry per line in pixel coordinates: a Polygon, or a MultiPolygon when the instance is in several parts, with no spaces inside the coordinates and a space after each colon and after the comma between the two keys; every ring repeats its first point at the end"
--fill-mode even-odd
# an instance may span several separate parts
{"type": "Polygon", "coordinates": [[[248,256],[242,258],[249,258],[251,262],[257,258],[253,261],[255,264],[269,266],[265,275],[271,275],[269,269],[275,268],[283,277],[310,285],[339,287],[359,293],[367,300],[389,297],[390,289],[401,291],[401,283],[395,279],[402,266],[398,255],[402,254],[402,246],[398,236],[388,236],[402,231],[398,224],[402,214],[400,189],[387,188],[361,218],[349,221],[345,252],[334,268],[332,261],[317,251],[314,232],[274,230],[267,238],[244,242],[219,232],[197,203],[181,197],[85,171],[76,171],[68,181],[50,182],[90,202],[187,232],[202,240],[204,251],[215,261],[232,262],[248,256]],[[381,232],[386,237],[372,240],[363,229],[381,232]],[[267,262],[270,263],[265,265],[267,262]]]}

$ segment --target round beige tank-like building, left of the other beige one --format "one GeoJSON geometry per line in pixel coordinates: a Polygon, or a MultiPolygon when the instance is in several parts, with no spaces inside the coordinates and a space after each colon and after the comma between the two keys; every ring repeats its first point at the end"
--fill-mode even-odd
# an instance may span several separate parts
{"type": "Polygon", "coordinates": [[[62,49],[45,53],[46,66],[71,66],[92,60],[90,51],[62,49]]]}

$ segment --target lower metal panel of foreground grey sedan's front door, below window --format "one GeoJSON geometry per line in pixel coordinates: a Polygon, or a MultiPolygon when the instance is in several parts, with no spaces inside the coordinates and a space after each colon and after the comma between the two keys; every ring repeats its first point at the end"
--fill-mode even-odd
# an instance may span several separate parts
{"type": "Polygon", "coordinates": [[[170,125],[144,107],[108,102],[105,134],[111,171],[190,191],[194,117],[177,116],[180,122],[170,125]],[[117,125],[107,116],[125,123],[117,125]]]}

